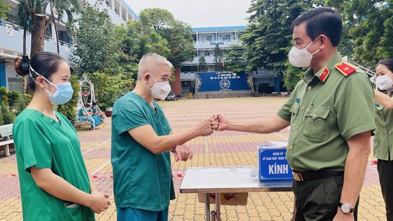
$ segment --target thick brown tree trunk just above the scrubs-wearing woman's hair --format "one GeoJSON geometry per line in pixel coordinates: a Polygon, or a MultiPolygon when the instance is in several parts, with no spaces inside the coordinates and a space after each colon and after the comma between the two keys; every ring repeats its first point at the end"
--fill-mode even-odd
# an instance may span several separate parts
{"type": "Polygon", "coordinates": [[[32,28],[32,51],[30,52],[30,58],[32,58],[36,53],[44,51],[46,21],[48,20],[49,18],[46,15],[34,15],[32,28]]]}

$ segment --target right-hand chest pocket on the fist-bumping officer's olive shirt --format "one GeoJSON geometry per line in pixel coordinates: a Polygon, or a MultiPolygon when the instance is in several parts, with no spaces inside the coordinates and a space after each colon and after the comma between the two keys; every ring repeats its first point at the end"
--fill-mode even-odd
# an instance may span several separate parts
{"type": "Polygon", "coordinates": [[[310,106],[305,113],[304,135],[309,140],[322,142],[329,136],[329,107],[310,106]]]}

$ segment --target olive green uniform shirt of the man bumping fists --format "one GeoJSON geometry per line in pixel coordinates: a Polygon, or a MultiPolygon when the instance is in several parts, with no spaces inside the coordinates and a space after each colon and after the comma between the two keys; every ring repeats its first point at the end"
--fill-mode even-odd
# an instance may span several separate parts
{"type": "Polygon", "coordinates": [[[358,71],[345,76],[335,68],[339,62],[337,53],[316,74],[308,69],[277,112],[291,122],[286,159],[292,170],[344,171],[347,140],[375,130],[371,82],[358,71]]]}

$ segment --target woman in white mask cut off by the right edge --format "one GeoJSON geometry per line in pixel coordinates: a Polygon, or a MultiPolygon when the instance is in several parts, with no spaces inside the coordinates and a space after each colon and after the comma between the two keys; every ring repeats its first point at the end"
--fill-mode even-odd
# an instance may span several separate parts
{"type": "Polygon", "coordinates": [[[378,174],[386,217],[393,220],[393,59],[381,60],[376,68],[376,86],[384,93],[375,90],[375,124],[373,155],[378,159],[378,174]]]}

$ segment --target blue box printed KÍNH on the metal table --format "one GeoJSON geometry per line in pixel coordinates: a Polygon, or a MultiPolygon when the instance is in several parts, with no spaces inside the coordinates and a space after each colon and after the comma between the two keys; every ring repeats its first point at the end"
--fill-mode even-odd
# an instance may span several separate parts
{"type": "Polygon", "coordinates": [[[292,170],[286,161],[287,142],[270,142],[272,145],[258,145],[259,180],[290,181],[292,170]]]}

